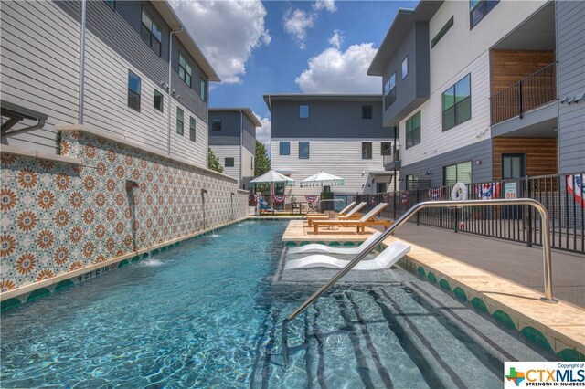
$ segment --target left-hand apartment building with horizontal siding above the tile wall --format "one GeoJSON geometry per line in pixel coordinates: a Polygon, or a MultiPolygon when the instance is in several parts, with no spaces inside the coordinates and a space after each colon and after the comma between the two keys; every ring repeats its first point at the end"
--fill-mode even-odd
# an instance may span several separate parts
{"type": "Polygon", "coordinates": [[[1,14],[4,122],[47,116],[37,130],[3,129],[3,144],[54,152],[55,126],[84,124],[207,166],[219,79],[168,2],[7,1],[1,14]]]}

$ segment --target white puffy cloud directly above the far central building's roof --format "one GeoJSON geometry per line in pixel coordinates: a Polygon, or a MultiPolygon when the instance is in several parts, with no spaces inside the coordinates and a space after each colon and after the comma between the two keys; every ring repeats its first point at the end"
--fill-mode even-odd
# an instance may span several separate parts
{"type": "Polygon", "coordinates": [[[309,59],[309,68],[294,82],[304,93],[381,93],[380,79],[366,74],[376,51],[371,43],[352,45],[345,52],[329,47],[309,59]]]}

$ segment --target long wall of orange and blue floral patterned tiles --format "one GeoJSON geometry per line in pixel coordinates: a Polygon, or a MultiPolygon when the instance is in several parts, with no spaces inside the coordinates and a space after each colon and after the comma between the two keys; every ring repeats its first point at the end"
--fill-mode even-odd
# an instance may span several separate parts
{"type": "Polygon", "coordinates": [[[2,292],[247,216],[219,174],[82,131],[60,146],[82,163],[2,152],[2,292]]]}

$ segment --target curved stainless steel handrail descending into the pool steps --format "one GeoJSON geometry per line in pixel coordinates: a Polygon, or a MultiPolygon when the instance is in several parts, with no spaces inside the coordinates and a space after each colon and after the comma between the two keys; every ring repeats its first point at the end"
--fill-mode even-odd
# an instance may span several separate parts
{"type": "Polygon", "coordinates": [[[532,205],[537,208],[540,214],[540,227],[542,232],[542,255],[544,260],[544,276],[545,276],[545,297],[541,297],[540,300],[549,303],[557,303],[558,300],[552,296],[552,263],[550,260],[550,232],[548,231],[548,213],[544,205],[537,202],[532,198],[516,198],[516,199],[495,199],[495,200],[461,200],[461,201],[425,201],[417,205],[413,205],[404,215],[400,216],[399,219],[388,229],[386,229],[382,235],[376,240],[370,243],[362,252],[357,254],[356,258],[347,263],[347,265],[339,270],[337,274],[329,279],[321,288],[311,295],[307,300],[303,302],[296,310],[293,311],[286,319],[282,321],[282,356],[284,358],[284,364],[288,364],[288,322],[299,316],[306,310],[311,304],[314,303],[321,295],[329,288],[335,285],[335,283],[344,277],[352,268],[354,268],[359,261],[378,247],[380,243],[387,237],[392,235],[396,230],[399,229],[404,223],[406,223],[410,217],[416,215],[421,209],[424,208],[446,208],[446,207],[463,207],[463,206],[496,206],[496,205],[532,205]]]}

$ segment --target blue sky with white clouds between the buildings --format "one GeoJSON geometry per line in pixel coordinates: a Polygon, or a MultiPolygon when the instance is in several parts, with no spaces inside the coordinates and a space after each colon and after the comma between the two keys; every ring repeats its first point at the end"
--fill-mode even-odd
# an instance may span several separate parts
{"type": "Polygon", "coordinates": [[[417,1],[172,0],[221,83],[210,108],[248,107],[268,144],[266,93],[381,93],[367,68],[399,8],[417,1]]]}

